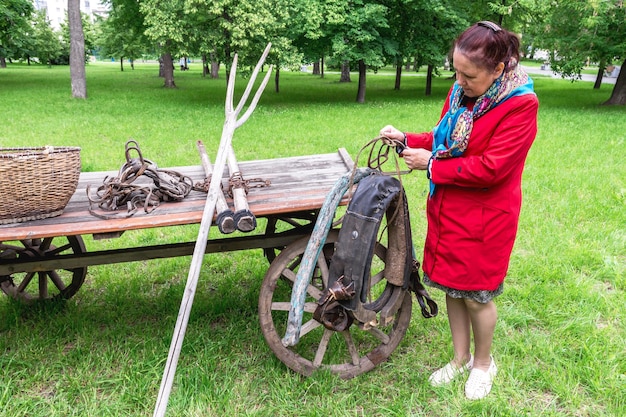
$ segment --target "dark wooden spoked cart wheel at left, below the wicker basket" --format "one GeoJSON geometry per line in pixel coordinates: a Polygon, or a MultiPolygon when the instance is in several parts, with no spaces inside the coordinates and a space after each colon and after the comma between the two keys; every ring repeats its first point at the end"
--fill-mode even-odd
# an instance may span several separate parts
{"type": "MultiPolygon", "coordinates": [[[[19,242],[0,242],[0,260],[49,259],[57,255],[85,252],[85,244],[80,236],[57,236],[44,239],[25,239],[19,242]]],[[[86,267],[21,272],[0,276],[0,288],[5,294],[22,302],[69,299],[83,285],[85,275],[87,275],[86,267]]]]}

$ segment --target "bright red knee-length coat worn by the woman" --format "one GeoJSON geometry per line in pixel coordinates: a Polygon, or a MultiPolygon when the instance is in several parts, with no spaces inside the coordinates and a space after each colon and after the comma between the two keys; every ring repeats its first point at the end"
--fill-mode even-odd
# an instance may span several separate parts
{"type": "MultiPolygon", "coordinates": [[[[449,98],[442,115],[448,110],[449,98]]],[[[537,134],[534,94],[509,98],[474,122],[458,158],[434,160],[427,203],[424,272],[446,287],[494,290],[504,281],[522,204],[522,171],[537,134]]],[[[407,134],[432,150],[433,134],[407,134]]]]}

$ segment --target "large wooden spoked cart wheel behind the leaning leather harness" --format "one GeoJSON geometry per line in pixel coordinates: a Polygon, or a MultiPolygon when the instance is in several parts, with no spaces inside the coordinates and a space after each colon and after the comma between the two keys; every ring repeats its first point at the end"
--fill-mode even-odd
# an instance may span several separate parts
{"type": "MultiPolygon", "coordinates": [[[[383,276],[386,248],[378,245],[372,260],[370,293],[373,301],[366,307],[379,312],[393,291],[401,291],[399,308],[388,324],[367,328],[355,322],[343,332],[326,329],[313,318],[317,300],[328,283],[328,265],[338,233],[333,230],[326,239],[307,290],[300,340],[293,347],[282,344],[291,306],[291,290],[309,238],[287,246],[270,265],[259,295],[259,319],[265,340],[276,356],[289,368],[308,376],[327,369],[342,378],[352,378],[373,369],[395,350],[411,320],[411,294],[392,286],[383,276]]],[[[397,294],[398,295],[398,294],[397,294]]],[[[392,313],[393,314],[393,313],[392,313]]]]}

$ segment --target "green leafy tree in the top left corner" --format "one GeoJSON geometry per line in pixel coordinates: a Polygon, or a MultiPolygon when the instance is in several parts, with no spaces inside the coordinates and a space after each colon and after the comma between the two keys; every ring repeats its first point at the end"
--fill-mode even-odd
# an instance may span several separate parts
{"type": "Polygon", "coordinates": [[[30,0],[0,2],[0,68],[6,68],[6,59],[19,56],[28,44],[33,11],[30,0]]]}

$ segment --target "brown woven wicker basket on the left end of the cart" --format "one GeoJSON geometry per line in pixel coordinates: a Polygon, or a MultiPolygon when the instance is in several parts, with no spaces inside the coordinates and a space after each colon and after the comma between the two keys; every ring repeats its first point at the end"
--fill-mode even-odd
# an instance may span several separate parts
{"type": "Polygon", "coordinates": [[[60,215],[79,176],[80,148],[0,148],[0,224],[60,215]]]}

